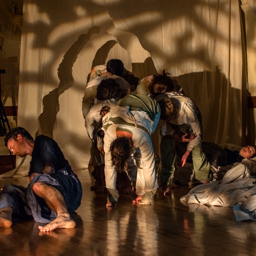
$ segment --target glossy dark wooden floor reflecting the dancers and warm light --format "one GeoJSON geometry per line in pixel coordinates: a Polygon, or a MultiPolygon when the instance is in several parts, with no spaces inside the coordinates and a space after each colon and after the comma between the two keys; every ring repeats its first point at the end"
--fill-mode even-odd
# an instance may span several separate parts
{"type": "MultiPolygon", "coordinates": [[[[253,256],[256,223],[236,222],[232,208],[182,204],[190,188],[172,195],[159,190],[153,205],[132,205],[134,196],[120,193],[107,209],[106,193],[90,191],[88,170],[76,171],[84,188],[82,205],[72,217],[74,229],[38,231],[33,220],[15,220],[0,228],[0,256],[253,256]]],[[[0,179],[28,184],[28,177],[0,179]]]]}

